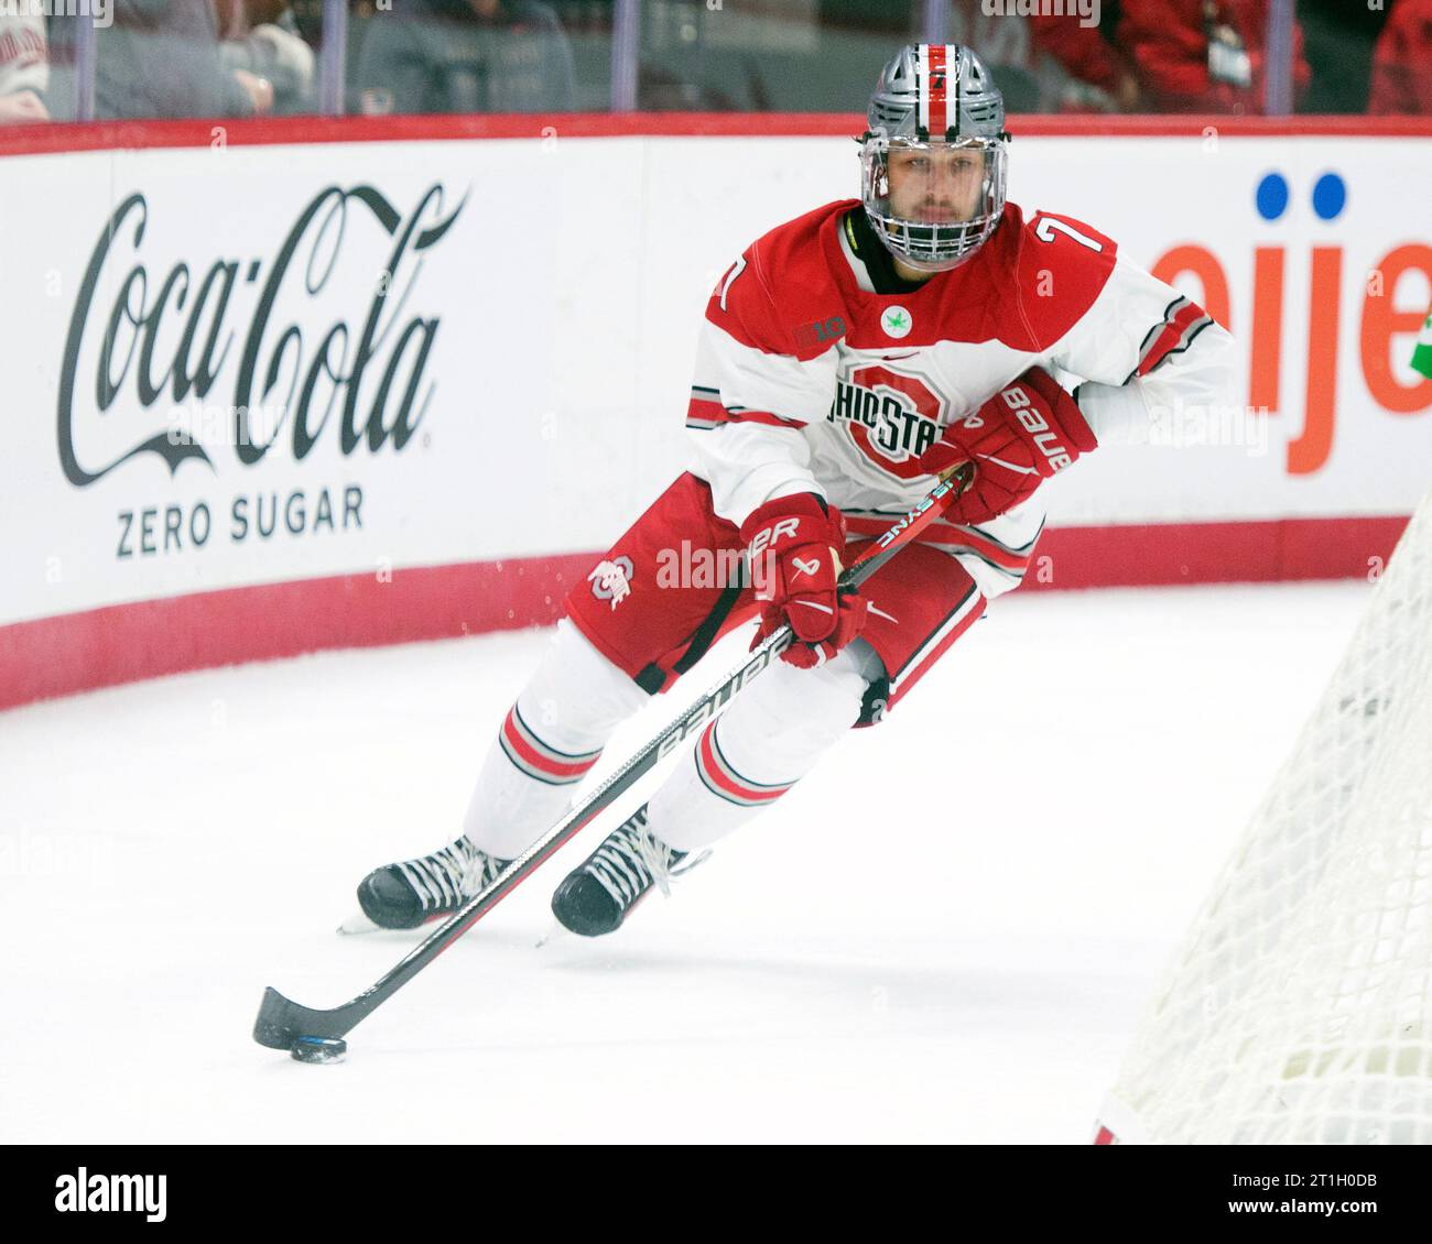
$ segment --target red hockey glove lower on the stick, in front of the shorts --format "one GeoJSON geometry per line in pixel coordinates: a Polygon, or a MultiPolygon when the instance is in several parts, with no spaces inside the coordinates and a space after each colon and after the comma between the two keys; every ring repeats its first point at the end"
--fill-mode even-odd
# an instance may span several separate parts
{"type": "MultiPolygon", "coordinates": [[[[756,643],[790,623],[796,643],[780,660],[802,670],[825,664],[865,626],[865,597],[836,591],[845,518],[813,492],[778,497],[740,524],[760,606],[756,643]]],[[[752,644],[755,647],[755,644],[752,644]]]]}

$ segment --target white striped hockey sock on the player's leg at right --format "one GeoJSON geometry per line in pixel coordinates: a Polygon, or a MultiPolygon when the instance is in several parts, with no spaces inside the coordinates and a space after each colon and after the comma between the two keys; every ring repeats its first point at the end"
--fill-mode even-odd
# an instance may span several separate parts
{"type": "Polygon", "coordinates": [[[647,805],[676,850],[710,846],[775,803],[859,720],[879,657],[861,640],[815,670],[778,661],[707,726],[647,805]]]}

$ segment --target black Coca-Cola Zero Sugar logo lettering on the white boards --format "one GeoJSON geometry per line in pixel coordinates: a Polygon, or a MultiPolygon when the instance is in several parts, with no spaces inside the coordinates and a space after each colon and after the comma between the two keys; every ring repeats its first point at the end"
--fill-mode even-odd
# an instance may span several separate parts
{"type": "Polygon", "coordinates": [[[147,200],[135,193],[119,205],[64,341],[56,408],[64,478],[89,488],[152,454],[170,480],[183,471],[258,488],[225,500],[218,531],[206,495],[122,508],[116,558],[199,553],[215,537],[241,544],[361,530],[361,484],[315,481],[281,494],[263,490],[258,468],[269,455],[302,464],[325,434],[345,468],[354,455],[407,448],[437,392],[428,362],[441,316],[411,305],[421,306],[421,261],[463,210],[438,215],[441,203],[440,185],[407,215],[372,186],[325,188],[268,263],[215,258],[160,272],[145,263],[147,200]],[[355,255],[369,251],[358,235],[374,223],[392,239],[390,253],[355,255]],[[375,259],[369,305],[349,324],[351,291],[375,259]],[[235,296],[236,286],[256,298],[235,296]]]}

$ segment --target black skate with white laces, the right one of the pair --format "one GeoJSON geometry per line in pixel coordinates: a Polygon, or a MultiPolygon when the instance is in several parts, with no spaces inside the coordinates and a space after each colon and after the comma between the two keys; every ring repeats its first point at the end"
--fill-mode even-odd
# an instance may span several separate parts
{"type": "Polygon", "coordinates": [[[669,893],[670,879],[696,868],[706,852],[676,868],[683,859],[686,852],[673,850],[647,832],[642,807],[557,886],[551,912],[573,933],[600,938],[620,928],[653,886],[669,893]]]}

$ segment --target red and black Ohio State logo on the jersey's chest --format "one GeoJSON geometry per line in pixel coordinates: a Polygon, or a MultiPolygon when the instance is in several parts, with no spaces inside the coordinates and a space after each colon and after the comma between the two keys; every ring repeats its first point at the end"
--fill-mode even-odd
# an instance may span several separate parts
{"type": "Polygon", "coordinates": [[[915,460],[939,437],[945,401],[929,381],[882,364],[858,366],[835,387],[826,419],[845,424],[859,451],[899,480],[925,474],[915,460]]]}

